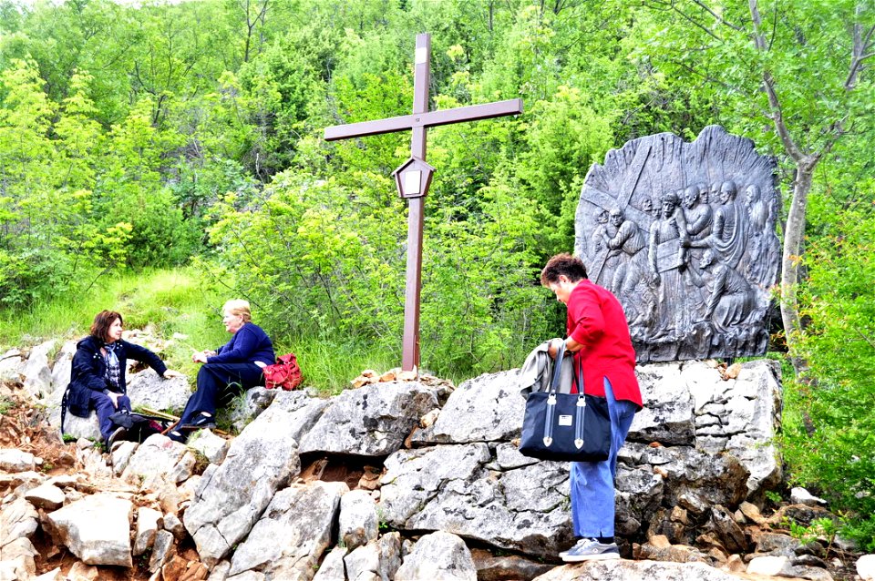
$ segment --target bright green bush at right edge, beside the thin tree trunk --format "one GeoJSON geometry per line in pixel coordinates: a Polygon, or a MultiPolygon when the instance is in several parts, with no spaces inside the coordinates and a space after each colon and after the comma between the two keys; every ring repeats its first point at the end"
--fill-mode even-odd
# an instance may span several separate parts
{"type": "MultiPolygon", "coordinates": [[[[866,186],[863,186],[864,189],[866,186]]],[[[871,182],[869,185],[871,188],[871,182]]],[[[849,511],[863,544],[875,515],[875,213],[838,209],[812,241],[802,301],[809,319],[800,350],[807,376],[787,385],[787,459],[795,481],[849,511]],[[840,225],[840,226],[839,226],[840,225]]]]}

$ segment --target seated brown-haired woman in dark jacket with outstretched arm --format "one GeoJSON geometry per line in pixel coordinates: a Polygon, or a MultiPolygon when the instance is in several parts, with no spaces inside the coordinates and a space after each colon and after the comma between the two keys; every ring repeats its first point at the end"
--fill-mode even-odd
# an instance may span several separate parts
{"type": "MultiPolygon", "coordinates": [[[[91,325],[91,334],[77,343],[70,385],[67,387],[70,413],[85,418],[94,410],[98,414],[100,434],[106,443],[118,438],[124,430],[114,424],[109,416],[118,410],[130,411],[125,382],[128,359],[146,363],[161,377],[181,377],[179,372],[167,369],[167,365],[155,353],[124,341],[121,338],[122,325],[118,312],[98,312],[91,325]]],[[[63,430],[63,420],[61,424],[63,430]]]]}

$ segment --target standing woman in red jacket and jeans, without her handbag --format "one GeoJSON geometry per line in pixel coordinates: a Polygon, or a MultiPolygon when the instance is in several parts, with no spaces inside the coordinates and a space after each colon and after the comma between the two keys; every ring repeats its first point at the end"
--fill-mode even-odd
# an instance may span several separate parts
{"type": "MultiPolygon", "coordinates": [[[[571,463],[571,522],[580,540],[560,556],[569,563],[620,558],[613,540],[613,479],[617,452],[642,408],[629,325],[620,301],[587,280],[583,262],[571,254],[551,258],[540,282],[568,308],[565,349],[573,353],[575,369],[582,365],[584,392],[607,399],[612,429],[607,460],[571,463]]],[[[551,357],[558,347],[551,344],[551,357]]]]}

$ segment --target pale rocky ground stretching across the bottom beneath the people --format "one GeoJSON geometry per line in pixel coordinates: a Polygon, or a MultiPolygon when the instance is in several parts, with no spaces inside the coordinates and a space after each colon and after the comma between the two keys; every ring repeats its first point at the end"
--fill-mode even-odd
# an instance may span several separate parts
{"type": "Polygon", "coordinates": [[[818,499],[764,505],[780,464],[739,443],[774,419],[779,386],[760,363],[728,380],[703,364],[639,372],[648,411],[618,473],[626,558],[561,566],[567,466],[516,451],[515,377],[453,389],[375,375],[330,400],[253,390],[236,438],[158,435],[111,454],[63,443],[53,412],[6,382],[0,581],[873,578],[875,556],[818,531],[837,522],[818,499]]]}

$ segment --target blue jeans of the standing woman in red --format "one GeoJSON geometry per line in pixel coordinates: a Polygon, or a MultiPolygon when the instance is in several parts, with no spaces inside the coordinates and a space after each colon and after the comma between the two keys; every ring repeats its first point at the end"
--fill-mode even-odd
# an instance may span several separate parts
{"type": "Polygon", "coordinates": [[[617,453],[626,441],[638,406],[615,400],[607,377],[604,378],[604,394],[611,416],[611,454],[603,462],[571,463],[571,524],[575,536],[613,536],[617,453]]]}

